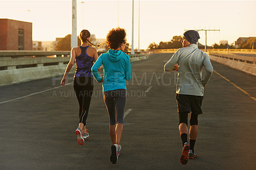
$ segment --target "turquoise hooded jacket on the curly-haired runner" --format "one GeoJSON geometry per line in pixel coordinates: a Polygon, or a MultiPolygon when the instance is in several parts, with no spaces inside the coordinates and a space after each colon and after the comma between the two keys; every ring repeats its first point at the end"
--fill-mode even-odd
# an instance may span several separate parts
{"type": "Polygon", "coordinates": [[[104,68],[103,91],[126,89],[126,81],[131,79],[131,63],[127,54],[122,50],[111,49],[101,54],[92,66],[93,76],[98,82],[100,82],[101,77],[97,69],[101,65],[104,68]]]}

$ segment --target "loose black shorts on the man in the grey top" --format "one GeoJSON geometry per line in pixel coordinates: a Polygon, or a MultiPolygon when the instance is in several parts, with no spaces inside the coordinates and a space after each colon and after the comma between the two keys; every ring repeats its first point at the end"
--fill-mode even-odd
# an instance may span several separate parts
{"type": "Polygon", "coordinates": [[[201,105],[203,102],[201,96],[176,94],[178,112],[192,112],[193,114],[202,114],[201,105]]]}

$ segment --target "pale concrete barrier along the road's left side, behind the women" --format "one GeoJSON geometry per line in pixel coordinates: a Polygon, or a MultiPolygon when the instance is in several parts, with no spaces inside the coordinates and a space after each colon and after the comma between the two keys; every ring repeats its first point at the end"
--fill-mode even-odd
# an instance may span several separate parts
{"type": "MultiPolygon", "coordinates": [[[[33,53],[28,54],[23,52],[22,54],[31,56],[33,53]]],[[[40,53],[40,55],[47,56],[44,53],[40,53]]],[[[65,55],[67,55],[66,52],[65,55]]],[[[65,57],[64,54],[61,54],[61,52],[58,56],[62,57],[56,58],[13,58],[13,56],[15,56],[14,53],[12,55],[6,54],[0,59],[0,86],[63,75],[70,59],[69,57],[65,57]]],[[[18,54],[18,56],[21,55],[18,54]]],[[[147,58],[148,57],[144,55],[131,56],[132,62],[141,61],[147,58]]],[[[70,73],[75,72],[75,70],[76,65],[72,67],[70,73]]]]}

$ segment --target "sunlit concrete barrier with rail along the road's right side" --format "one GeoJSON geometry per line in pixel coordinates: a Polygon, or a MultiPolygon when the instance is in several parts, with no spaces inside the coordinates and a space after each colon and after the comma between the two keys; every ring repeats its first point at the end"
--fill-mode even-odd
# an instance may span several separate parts
{"type": "Polygon", "coordinates": [[[210,59],[236,70],[256,76],[256,57],[209,52],[210,59]]]}

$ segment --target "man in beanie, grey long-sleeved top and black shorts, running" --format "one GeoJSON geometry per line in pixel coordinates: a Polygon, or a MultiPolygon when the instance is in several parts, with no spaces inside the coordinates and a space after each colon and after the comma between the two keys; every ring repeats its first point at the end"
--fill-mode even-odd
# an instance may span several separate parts
{"type": "Polygon", "coordinates": [[[182,47],[164,65],[165,72],[177,70],[176,99],[179,112],[179,132],[183,148],[180,163],[187,164],[188,158],[196,158],[194,151],[198,134],[198,114],[202,114],[201,105],[204,97],[204,87],[209,81],[213,68],[209,56],[197,48],[200,38],[195,30],[184,33],[182,47]],[[202,68],[205,76],[202,77],[202,68]],[[190,115],[189,144],[188,144],[188,113],[190,115]]]}

